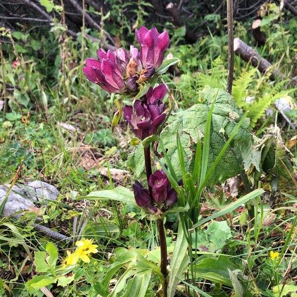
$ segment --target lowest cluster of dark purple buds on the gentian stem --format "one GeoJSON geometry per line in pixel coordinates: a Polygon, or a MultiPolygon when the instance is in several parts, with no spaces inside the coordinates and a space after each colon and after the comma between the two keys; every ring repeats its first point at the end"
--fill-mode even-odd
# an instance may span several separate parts
{"type": "Polygon", "coordinates": [[[153,214],[160,214],[177,202],[177,193],[171,188],[163,170],[157,170],[151,174],[148,185],[151,188],[152,197],[139,181],[135,181],[133,185],[135,201],[139,207],[148,209],[153,214]]]}

